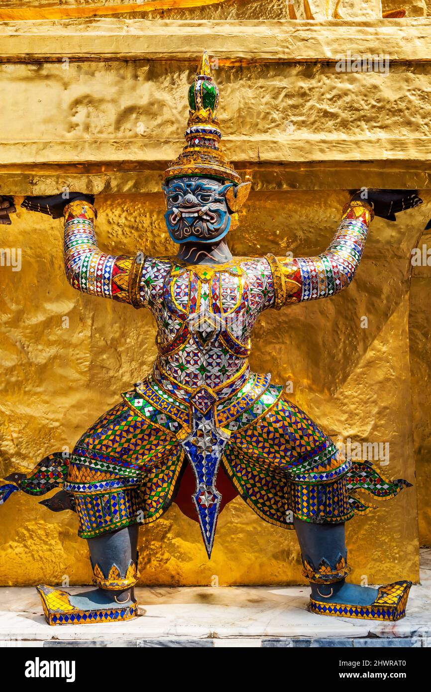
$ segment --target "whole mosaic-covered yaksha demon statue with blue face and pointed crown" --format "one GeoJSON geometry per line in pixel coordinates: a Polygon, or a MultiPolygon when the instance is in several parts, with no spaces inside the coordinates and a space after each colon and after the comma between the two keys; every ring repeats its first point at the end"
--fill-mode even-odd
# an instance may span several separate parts
{"type": "MultiPolygon", "coordinates": [[[[236,495],[263,520],[295,529],[311,585],[309,610],[398,620],[410,581],[378,589],[349,583],[345,522],[371,509],[358,493],[387,500],[410,484],[345,458],[270,374],[250,371],[248,356],[262,311],[347,288],[374,215],[394,220],[421,200],[408,190],[354,194],[322,255],[232,257],[226,237],[251,183],[219,149],[219,91],[206,53],[188,101],[185,147],[163,183],[177,255],[102,253],[94,199],[86,194],[73,193],[68,203],[62,195],[23,203],[64,215],[64,264],[74,289],[147,308],[158,326],[152,372],[84,432],[70,457],[48,455],[1,486],[3,501],[18,490],[39,496],[59,486],[42,504],[75,511],[79,536],[88,541],[96,588],[71,595],[37,587],[46,620],[131,619],[138,524],[156,521],[176,501],[199,522],[210,558],[219,513],[236,495]]],[[[3,219],[7,212],[6,203],[3,219]]]]}

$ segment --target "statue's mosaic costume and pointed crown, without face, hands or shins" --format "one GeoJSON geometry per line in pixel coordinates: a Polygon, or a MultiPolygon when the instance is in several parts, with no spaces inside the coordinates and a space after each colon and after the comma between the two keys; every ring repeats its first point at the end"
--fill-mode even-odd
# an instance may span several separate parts
{"type": "MultiPolygon", "coordinates": [[[[219,95],[206,54],[189,100],[187,144],[166,179],[219,170],[223,179],[239,183],[219,151],[219,95]]],[[[237,192],[239,197],[230,194],[232,211],[245,201],[248,188],[239,185],[237,192]]],[[[381,489],[381,498],[389,495],[392,486],[385,487],[372,466],[354,467],[347,489],[349,460],[286,401],[268,374],[253,374],[248,366],[251,332],[262,311],[333,295],[349,284],[372,216],[369,205],[352,201],[318,257],[267,255],[188,265],[174,257],[104,255],[95,239],[94,208],[82,202],[66,207],[64,256],[71,284],[148,307],[158,325],[153,372],[123,394],[123,405],[97,421],[70,460],[64,489],[76,496],[81,535],[133,522],[143,495],[152,505],[145,520],[160,516],[172,500],[183,459],[195,473],[193,500],[208,554],[222,455],[244,500],[279,525],[290,525],[292,514],[340,522],[354,511],[368,511],[356,486],[374,489],[376,496],[381,489]]]]}

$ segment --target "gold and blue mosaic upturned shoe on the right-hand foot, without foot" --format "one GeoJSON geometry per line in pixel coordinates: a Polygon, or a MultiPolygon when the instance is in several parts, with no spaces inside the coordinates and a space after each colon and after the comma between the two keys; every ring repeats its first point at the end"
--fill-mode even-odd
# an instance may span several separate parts
{"type": "Polygon", "coordinates": [[[411,586],[411,581],[395,581],[393,584],[380,586],[378,595],[372,605],[325,603],[324,601],[316,601],[310,598],[309,610],[318,615],[336,615],[338,617],[395,622],[405,616],[405,607],[411,586]]]}

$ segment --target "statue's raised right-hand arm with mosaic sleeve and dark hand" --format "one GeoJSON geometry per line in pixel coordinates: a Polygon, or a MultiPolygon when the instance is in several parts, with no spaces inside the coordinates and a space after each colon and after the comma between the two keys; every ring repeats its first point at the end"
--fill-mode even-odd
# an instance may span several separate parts
{"type": "Polygon", "coordinates": [[[331,243],[317,257],[267,255],[273,275],[273,307],[327,298],[349,286],[362,257],[369,225],[374,215],[395,221],[395,213],[417,206],[421,199],[408,190],[369,190],[345,206],[331,243]]]}

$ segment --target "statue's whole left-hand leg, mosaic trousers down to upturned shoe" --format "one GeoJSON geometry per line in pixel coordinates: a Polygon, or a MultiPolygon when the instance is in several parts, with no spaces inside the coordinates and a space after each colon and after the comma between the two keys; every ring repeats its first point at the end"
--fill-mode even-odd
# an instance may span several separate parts
{"type": "MultiPolygon", "coordinates": [[[[129,393],[133,403],[134,392],[129,393]]],[[[140,398],[141,405],[147,406],[140,398]]],[[[167,419],[167,424],[171,421],[167,419]]],[[[63,493],[88,541],[96,588],[71,595],[38,587],[51,625],[128,620],[136,615],[138,525],[165,511],[181,470],[172,432],[139,415],[127,401],[89,428],[68,459],[63,493]]]]}

